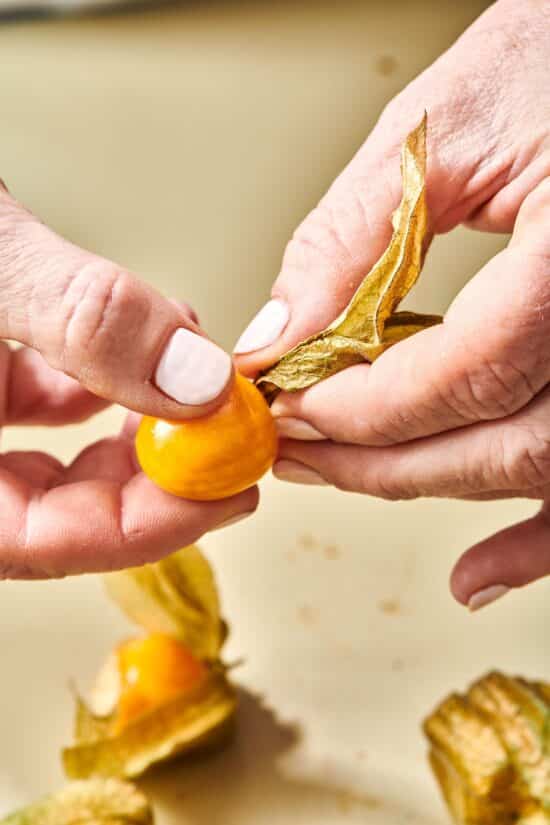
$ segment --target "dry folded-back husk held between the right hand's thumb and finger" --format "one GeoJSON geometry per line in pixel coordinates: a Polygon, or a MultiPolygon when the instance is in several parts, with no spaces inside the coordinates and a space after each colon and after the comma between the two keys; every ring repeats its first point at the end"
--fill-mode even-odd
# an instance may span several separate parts
{"type": "Polygon", "coordinates": [[[403,146],[403,196],[393,216],[388,248],[340,317],[258,378],[268,402],[280,390],[297,392],[354,364],[372,362],[398,341],[441,322],[440,316],[395,312],[422,268],[428,224],[426,126],[424,115],[403,146]]]}

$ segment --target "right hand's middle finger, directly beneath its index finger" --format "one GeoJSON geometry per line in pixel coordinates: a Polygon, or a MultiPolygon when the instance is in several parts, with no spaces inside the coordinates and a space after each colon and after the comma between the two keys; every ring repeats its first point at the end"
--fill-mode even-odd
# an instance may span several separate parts
{"type": "Polygon", "coordinates": [[[547,389],[506,420],[391,447],[282,441],[274,472],[391,500],[543,489],[550,481],[549,408],[547,389]]]}

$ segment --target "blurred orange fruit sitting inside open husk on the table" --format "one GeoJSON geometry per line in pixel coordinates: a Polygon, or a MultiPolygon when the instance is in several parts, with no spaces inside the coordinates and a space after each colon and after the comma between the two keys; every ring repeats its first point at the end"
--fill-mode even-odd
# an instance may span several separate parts
{"type": "Polygon", "coordinates": [[[117,657],[119,731],[138,716],[184,696],[207,673],[206,666],[190,650],[162,633],[126,642],[118,648],[117,657]]]}

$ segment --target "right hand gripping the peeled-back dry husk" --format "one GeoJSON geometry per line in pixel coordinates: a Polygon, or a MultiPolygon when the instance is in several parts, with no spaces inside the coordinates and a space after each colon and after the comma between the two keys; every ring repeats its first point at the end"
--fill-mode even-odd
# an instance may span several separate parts
{"type": "Polygon", "coordinates": [[[237,345],[249,374],[327,326],[388,243],[399,147],[428,110],[431,230],[514,234],[445,323],[273,406],[280,478],[389,499],[543,502],[452,577],[472,608],[550,573],[550,6],[500,0],[382,114],[286,250],[237,345]],[[323,439],[323,440],[321,440],[323,439]]]}

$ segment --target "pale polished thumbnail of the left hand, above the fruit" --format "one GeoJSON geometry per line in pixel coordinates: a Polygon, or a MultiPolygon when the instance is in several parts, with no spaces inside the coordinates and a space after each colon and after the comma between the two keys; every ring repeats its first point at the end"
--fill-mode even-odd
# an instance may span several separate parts
{"type": "Polygon", "coordinates": [[[230,356],[207,338],[178,329],[159,361],[155,383],[180,404],[196,406],[213,401],[231,377],[230,356]]]}

